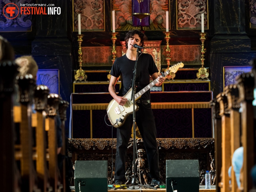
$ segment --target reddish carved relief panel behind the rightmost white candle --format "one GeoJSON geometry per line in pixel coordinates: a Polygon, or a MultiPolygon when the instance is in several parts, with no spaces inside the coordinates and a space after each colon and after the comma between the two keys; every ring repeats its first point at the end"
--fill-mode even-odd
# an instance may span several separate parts
{"type": "MultiPolygon", "coordinates": [[[[207,0],[176,0],[177,29],[201,29],[201,14],[207,15],[207,0]]],[[[207,17],[204,23],[208,26],[207,17]]],[[[208,28],[208,27],[207,27],[208,28]]]]}

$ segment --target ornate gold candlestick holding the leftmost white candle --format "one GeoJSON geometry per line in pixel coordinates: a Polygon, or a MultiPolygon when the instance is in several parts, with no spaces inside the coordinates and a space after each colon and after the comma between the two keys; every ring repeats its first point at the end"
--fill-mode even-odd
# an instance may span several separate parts
{"type": "Polygon", "coordinates": [[[85,71],[82,69],[82,62],[83,62],[83,59],[82,59],[82,49],[81,49],[81,44],[83,42],[83,36],[84,35],[77,35],[78,39],[78,63],[79,63],[79,69],[76,71],[76,75],[75,75],[75,82],[77,80],[79,81],[86,81],[87,79],[87,75],[85,74],[85,71]]]}

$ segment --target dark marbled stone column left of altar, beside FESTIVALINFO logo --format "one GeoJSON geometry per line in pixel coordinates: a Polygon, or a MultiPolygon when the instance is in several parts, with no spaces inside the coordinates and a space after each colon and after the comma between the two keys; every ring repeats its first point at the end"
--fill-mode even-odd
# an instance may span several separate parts
{"type": "MultiPolygon", "coordinates": [[[[70,102],[72,93],[71,42],[67,32],[67,1],[38,0],[39,4],[54,4],[60,14],[36,15],[35,39],[31,53],[39,69],[59,69],[59,89],[63,100],[70,102]]],[[[46,9],[47,9],[46,6],[46,9]]],[[[70,108],[67,109],[66,133],[68,134],[70,108]]],[[[67,135],[66,134],[66,135],[67,135]]]]}

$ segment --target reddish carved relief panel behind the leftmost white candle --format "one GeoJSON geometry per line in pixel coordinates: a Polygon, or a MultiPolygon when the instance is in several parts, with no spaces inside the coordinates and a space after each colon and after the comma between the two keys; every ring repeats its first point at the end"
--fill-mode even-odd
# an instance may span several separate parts
{"type": "Polygon", "coordinates": [[[105,30],[105,5],[102,0],[73,0],[74,5],[74,31],[78,31],[77,15],[81,13],[82,31],[104,31],[105,30]]]}

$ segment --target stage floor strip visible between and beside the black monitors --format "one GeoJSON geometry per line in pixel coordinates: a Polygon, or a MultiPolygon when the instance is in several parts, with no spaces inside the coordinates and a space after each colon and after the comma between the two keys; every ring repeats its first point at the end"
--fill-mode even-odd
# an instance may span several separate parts
{"type": "MultiPolygon", "coordinates": [[[[200,185],[199,186],[199,192],[215,192],[216,191],[216,186],[215,185],[211,185],[211,189],[204,189],[205,186],[204,185],[200,185]]],[[[117,190],[113,190],[113,189],[109,189],[108,192],[112,192],[112,191],[129,191],[129,192],[139,192],[139,191],[152,191],[152,192],[166,192],[166,189],[117,189],[117,190]]],[[[71,192],[75,192],[75,187],[71,187],[71,192]]],[[[83,192],[83,191],[82,191],[83,192]]]]}

